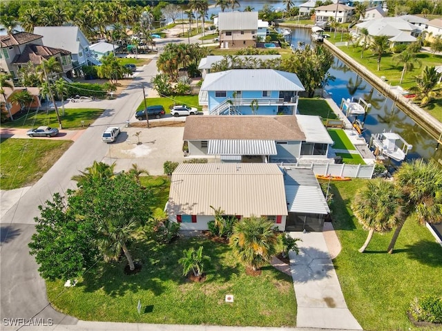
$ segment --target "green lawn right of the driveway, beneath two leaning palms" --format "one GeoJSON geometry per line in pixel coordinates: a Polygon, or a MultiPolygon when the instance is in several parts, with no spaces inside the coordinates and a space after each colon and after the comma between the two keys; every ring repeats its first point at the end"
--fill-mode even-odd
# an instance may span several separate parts
{"type": "MultiPolygon", "coordinates": [[[[387,254],[392,234],[374,234],[363,254],[367,236],[352,217],[349,202],[366,180],[333,182],[333,220],[343,250],[334,260],[345,301],[364,330],[423,330],[407,319],[415,296],[441,295],[442,247],[415,220],[405,223],[394,254],[387,254]]],[[[441,330],[440,328],[432,330],[441,330]]]]}

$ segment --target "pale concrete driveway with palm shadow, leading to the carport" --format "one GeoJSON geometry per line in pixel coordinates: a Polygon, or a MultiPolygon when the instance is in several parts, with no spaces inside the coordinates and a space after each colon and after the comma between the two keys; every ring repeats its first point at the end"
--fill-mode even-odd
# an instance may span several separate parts
{"type": "Polygon", "coordinates": [[[363,330],[347,308],[323,233],[289,234],[302,240],[299,255],[289,252],[298,328],[363,330]]]}

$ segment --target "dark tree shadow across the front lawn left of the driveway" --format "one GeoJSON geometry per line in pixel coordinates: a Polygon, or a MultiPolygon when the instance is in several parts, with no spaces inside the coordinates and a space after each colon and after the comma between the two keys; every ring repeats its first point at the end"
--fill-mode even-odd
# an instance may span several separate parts
{"type": "Polygon", "coordinates": [[[155,296],[160,296],[168,290],[167,283],[184,284],[188,279],[182,275],[182,266],[178,260],[184,256],[184,249],[189,247],[204,247],[203,254],[209,255],[211,261],[206,264],[206,274],[211,275],[208,281],[228,282],[233,274],[238,274],[238,265],[229,267],[222,256],[229,246],[213,243],[206,238],[178,238],[169,244],[158,243],[155,238],[137,240],[128,247],[135,262],[142,264],[139,273],[127,276],[124,267],[127,260],[124,254],[119,261],[102,263],[95,272],[84,275],[84,281],[77,287],[84,287],[84,292],[103,290],[109,296],[124,296],[126,292],[136,293],[139,290],[151,290],[155,296]],[[211,280],[210,280],[211,279],[211,280]]]}

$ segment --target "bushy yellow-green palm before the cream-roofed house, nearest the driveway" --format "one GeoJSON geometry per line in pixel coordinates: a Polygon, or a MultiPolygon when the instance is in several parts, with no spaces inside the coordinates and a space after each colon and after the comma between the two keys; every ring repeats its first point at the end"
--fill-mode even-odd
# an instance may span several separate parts
{"type": "Polygon", "coordinates": [[[278,236],[274,224],[266,218],[244,218],[233,226],[230,247],[234,254],[253,270],[270,261],[276,253],[278,236]]]}

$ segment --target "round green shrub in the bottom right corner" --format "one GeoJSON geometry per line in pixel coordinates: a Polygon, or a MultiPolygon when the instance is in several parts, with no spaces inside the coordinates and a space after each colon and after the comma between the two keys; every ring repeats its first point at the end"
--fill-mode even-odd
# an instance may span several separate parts
{"type": "Polygon", "coordinates": [[[410,310],[416,321],[442,323],[442,297],[427,295],[414,298],[410,310]]]}

